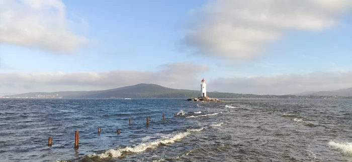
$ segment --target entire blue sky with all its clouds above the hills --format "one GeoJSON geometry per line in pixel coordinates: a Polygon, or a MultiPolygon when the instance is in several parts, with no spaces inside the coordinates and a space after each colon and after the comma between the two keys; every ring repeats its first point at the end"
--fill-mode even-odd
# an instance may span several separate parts
{"type": "Polygon", "coordinates": [[[352,1],[0,0],[0,95],[352,87],[352,1]]]}

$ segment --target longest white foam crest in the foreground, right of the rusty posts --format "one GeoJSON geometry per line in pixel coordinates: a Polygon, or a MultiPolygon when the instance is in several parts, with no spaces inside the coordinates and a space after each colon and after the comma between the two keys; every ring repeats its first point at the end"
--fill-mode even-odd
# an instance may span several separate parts
{"type": "MultiPolygon", "coordinates": [[[[193,129],[191,129],[191,130],[193,130],[193,129]]],[[[194,129],[194,131],[195,130],[196,129],[194,129]]],[[[108,149],[108,150],[104,151],[101,154],[92,153],[92,154],[87,155],[87,156],[88,157],[98,157],[98,158],[120,157],[123,152],[142,152],[142,151],[145,151],[147,148],[155,148],[159,144],[174,143],[176,140],[180,140],[182,138],[185,138],[189,134],[190,134],[190,132],[187,131],[187,132],[176,134],[176,135],[174,135],[172,137],[162,138],[162,139],[158,139],[158,140],[151,141],[151,142],[146,142],[146,143],[140,143],[140,144],[138,144],[138,145],[136,145],[134,147],[127,146],[125,148],[108,149]]]]}

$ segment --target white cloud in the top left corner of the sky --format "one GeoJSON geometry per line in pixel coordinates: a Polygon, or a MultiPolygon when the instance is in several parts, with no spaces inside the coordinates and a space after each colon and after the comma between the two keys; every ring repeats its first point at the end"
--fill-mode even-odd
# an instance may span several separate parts
{"type": "Polygon", "coordinates": [[[89,40],[69,22],[60,0],[0,0],[0,43],[72,53],[89,40]]]}

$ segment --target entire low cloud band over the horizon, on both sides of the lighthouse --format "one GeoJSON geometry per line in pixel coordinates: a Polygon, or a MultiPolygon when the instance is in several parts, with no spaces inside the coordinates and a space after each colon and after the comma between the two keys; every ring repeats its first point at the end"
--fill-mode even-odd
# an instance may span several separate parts
{"type": "MultiPolygon", "coordinates": [[[[178,89],[199,89],[200,74],[208,67],[192,63],[172,63],[151,71],[33,72],[0,73],[3,93],[103,90],[139,83],[152,83],[178,89]],[[197,70],[192,70],[197,69],[197,70]]],[[[267,75],[207,79],[208,91],[251,94],[294,94],[330,91],[352,87],[352,71],[314,72],[306,75],[267,75]]]]}

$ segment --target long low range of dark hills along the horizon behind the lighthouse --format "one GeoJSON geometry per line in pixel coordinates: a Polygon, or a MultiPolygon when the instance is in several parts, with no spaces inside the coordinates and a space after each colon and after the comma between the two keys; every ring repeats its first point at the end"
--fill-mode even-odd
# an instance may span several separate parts
{"type": "MultiPolygon", "coordinates": [[[[340,90],[344,93],[348,89],[340,90]]],[[[317,92],[318,93],[318,92],[317,92]]],[[[208,92],[213,98],[335,98],[322,97],[328,95],[255,95],[225,92],[208,92]]],[[[5,98],[195,98],[200,96],[200,91],[187,89],[172,89],[156,84],[137,84],[101,91],[60,91],[60,92],[32,92],[18,95],[7,95],[5,98]]],[[[334,96],[330,95],[330,96],[334,96]]],[[[348,95],[347,95],[348,96],[348,95]]]]}

